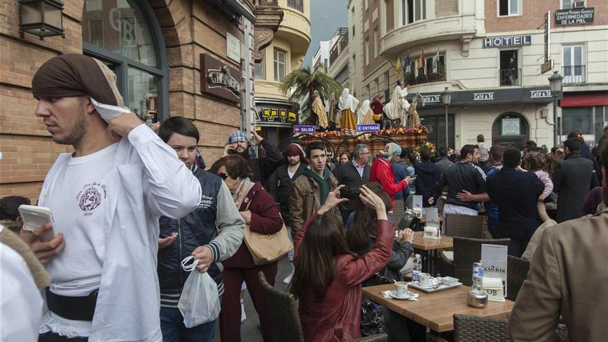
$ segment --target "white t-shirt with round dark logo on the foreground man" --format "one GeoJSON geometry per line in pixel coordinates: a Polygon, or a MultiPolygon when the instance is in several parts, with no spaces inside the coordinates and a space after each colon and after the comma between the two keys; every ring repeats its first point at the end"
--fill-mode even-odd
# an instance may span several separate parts
{"type": "Polygon", "coordinates": [[[55,234],[66,247],[46,265],[50,290],[62,296],[86,296],[99,288],[105,253],[108,193],[115,177],[118,144],[84,157],[70,157],[50,184],[44,205],[53,213],[55,234]]]}

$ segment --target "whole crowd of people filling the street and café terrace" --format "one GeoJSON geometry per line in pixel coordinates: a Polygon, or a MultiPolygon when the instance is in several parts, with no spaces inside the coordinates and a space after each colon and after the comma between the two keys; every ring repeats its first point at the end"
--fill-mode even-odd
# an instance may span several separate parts
{"type": "MultiPolygon", "coordinates": [[[[9,247],[2,249],[1,281],[7,341],[211,341],[217,325],[222,342],[241,341],[245,289],[263,340],[273,341],[258,272],[274,285],[278,261],[254,263],[243,241],[245,225],[260,234],[289,229],[292,272],[283,283],[299,298],[305,341],[356,339],[361,287],[410,276],[413,231],[395,235],[388,213],[415,194],[441,215],[486,215],[493,238],[511,238],[509,254],[534,256],[531,282],[523,290],[531,303],[540,301],[534,294],[548,281],[544,267],[567,283],[560,267],[575,263],[552,254],[552,243],[579,255],[597,247],[572,246],[580,235],[591,238],[576,234],[573,219],[593,220],[589,225],[599,244],[608,240],[608,128],[593,150],[580,131],[572,131],[563,149],[551,151],[532,141],[521,149],[486,146],[479,135],[478,144],[459,151],[439,146],[416,153],[395,142],[371,151],[358,144],[336,159],[321,142],[279,151],[254,130],[252,140],[235,131],[222,157],[207,168],[199,151],[204,137],[191,120],[171,117],[153,131],[122,111],[111,76],[91,57],[61,55],[43,64],[32,81],[35,114],[57,144],[71,145],[74,152],[59,155],[37,201],[53,212],[54,225],[21,229],[17,208],[30,200],[0,200],[0,224],[7,228],[0,230],[0,241],[9,247]],[[547,213],[551,202],[557,203],[555,215],[547,213]],[[563,234],[550,228],[560,222],[573,228],[563,234]],[[10,238],[8,230],[21,239],[10,238]],[[48,231],[54,238],[44,240],[48,231]],[[221,300],[218,319],[194,327],[184,325],[178,308],[189,276],[182,260],[189,256],[196,271],[215,281],[221,300]]],[[[591,278],[605,274],[599,270],[591,278]]],[[[577,284],[585,279],[580,275],[577,284]]],[[[576,323],[576,314],[564,312],[568,307],[560,305],[555,286],[553,297],[538,308],[517,301],[510,325],[514,339],[526,329],[544,334],[530,317],[545,320],[546,328],[557,324],[560,313],[572,326],[571,336],[598,336],[576,323]]],[[[598,310],[606,310],[605,297],[598,310]]],[[[423,326],[381,310],[390,341],[424,339],[423,326]]],[[[570,310],[578,314],[585,305],[570,310]]],[[[581,314],[597,312],[589,311],[581,314]]]]}

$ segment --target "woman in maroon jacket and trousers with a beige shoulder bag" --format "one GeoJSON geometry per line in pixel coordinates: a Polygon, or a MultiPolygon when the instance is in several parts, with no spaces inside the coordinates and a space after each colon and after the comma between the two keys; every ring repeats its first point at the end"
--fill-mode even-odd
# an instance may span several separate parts
{"type": "MultiPolygon", "coordinates": [[[[251,182],[249,163],[241,155],[227,155],[211,166],[211,172],[219,175],[230,192],[240,216],[252,231],[274,234],[283,228],[283,219],[274,205],[274,199],[260,183],[251,182]]],[[[245,242],[234,254],[222,261],[224,270],[224,294],[220,312],[220,337],[222,342],[240,342],[240,287],[243,281],[251,294],[251,300],[260,317],[262,336],[265,342],[272,342],[272,322],[266,312],[264,290],[258,280],[258,272],[264,272],[270,285],[274,285],[278,261],[267,265],[254,265],[245,242]]]]}

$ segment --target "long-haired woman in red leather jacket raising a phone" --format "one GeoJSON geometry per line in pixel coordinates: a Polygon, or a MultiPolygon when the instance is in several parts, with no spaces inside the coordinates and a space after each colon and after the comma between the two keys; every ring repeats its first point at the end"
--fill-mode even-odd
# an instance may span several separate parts
{"type": "Polygon", "coordinates": [[[323,207],[294,238],[291,292],[299,298],[307,342],[350,341],[361,337],[361,283],[384,267],[392,252],[395,226],[386,219],[381,198],[365,186],[361,187],[359,197],[376,210],[376,242],[361,257],[348,249],[341,220],[323,215],[346,200],[339,198],[342,187],[329,193],[323,207]]]}

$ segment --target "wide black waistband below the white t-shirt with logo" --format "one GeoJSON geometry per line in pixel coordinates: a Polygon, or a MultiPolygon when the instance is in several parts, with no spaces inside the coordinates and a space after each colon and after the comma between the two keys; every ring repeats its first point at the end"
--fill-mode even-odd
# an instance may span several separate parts
{"type": "Polygon", "coordinates": [[[98,292],[99,289],[96,289],[88,296],[68,297],[54,294],[46,287],[46,305],[48,310],[64,319],[93,321],[98,292]]]}

